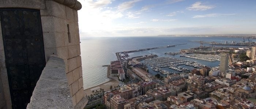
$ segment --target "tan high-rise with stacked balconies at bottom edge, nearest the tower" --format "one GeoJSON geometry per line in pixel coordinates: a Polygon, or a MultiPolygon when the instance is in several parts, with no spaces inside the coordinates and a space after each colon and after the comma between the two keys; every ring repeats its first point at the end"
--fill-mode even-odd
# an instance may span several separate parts
{"type": "Polygon", "coordinates": [[[127,101],[120,95],[115,95],[110,98],[110,109],[124,109],[124,105],[127,101]]]}

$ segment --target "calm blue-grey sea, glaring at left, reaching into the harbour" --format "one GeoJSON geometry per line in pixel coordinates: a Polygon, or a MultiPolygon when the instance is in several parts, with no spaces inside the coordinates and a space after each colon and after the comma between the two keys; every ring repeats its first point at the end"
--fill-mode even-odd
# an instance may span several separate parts
{"type": "MultiPolygon", "coordinates": [[[[110,79],[107,77],[107,67],[103,65],[109,65],[110,61],[117,60],[116,52],[132,51],[144,48],[161,47],[167,45],[178,45],[175,47],[153,49],[149,51],[133,52],[129,53],[129,57],[136,57],[142,55],[154,54],[159,57],[173,57],[181,58],[183,60],[197,61],[201,64],[214,67],[219,65],[219,61],[210,62],[197,60],[187,57],[180,57],[165,55],[165,52],[178,52],[181,49],[189,49],[199,47],[200,43],[193,41],[208,41],[219,43],[231,43],[232,41],[240,42],[241,38],[231,37],[80,37],[80,48],[82,57],[83,68],[83,85],[84,89],[91,88],[108,82],[110,79]]],[[[256,41],[256,39],[250,39],[256,41]]],[[[209,44],[203,44],[203,46],[211,46],[209,44]]],[[[227,47],[227,46],[225,46],[227,47]]],[[[236,46],[237,47],[237,46],[236,46]]],[[[149,67],[149,66],[148,66],[149,67]]],[[[186,68],[193,69],[192,67],[185,66],[186,68]]],[[[150,69],[150,68],[149,68],[150,69]]],[[[163,68],[170,70],[169,68],[163,68]]],[[[174,70],[170,70],[175,72],[174,70]]],[[[153,70],[149,70],[151,74],[157,74],[153,70]]],[[[164,76],[164,75],[163,75],[164,76]]]]}

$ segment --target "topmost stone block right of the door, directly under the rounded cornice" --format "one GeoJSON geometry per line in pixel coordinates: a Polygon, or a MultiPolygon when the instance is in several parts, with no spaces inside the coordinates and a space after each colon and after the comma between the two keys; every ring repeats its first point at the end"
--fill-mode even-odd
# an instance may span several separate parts
{"type": "Polygon", "coordinates": [[[57,16],[66,18],[65,5],[59,4],[54,0],[46,0],[46,9],[41,10],[41,16],[57,16]]]}

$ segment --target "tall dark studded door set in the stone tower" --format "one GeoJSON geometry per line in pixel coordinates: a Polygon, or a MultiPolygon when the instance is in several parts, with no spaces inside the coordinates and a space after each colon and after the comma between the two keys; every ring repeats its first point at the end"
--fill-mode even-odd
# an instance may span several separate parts
{"type": "Polygon", "coordinates": [[[45,67],[40,11],[0,8],[12,108],[26,108],[45,67]]]}

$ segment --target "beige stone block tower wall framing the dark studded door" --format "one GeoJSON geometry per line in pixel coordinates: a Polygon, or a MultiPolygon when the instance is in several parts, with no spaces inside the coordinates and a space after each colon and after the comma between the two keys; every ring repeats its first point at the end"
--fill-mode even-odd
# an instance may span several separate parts
{"type": "MultiPolygon", "coordinates": [[[[77,12],[82,5],[76,0],[0,0],[0,8],[40,10],[46,62],[53,54],[64,60],[73,105],[75,108],[83,108],[86,98],[83,91],[77,12]]],[[[1,46],[3,45],[0,45],[0,49],[1,46]]],[[[5,74],[4,77],[1,76],[6,77],[3,81],[8,84],[7,73],[1,73],[5,74]]],[[[10,106],[10,91],[7,87],[4,87],[4,90],[6,101],[9,103],[7,105],[10,106]]]]}

